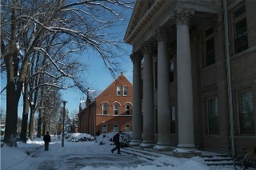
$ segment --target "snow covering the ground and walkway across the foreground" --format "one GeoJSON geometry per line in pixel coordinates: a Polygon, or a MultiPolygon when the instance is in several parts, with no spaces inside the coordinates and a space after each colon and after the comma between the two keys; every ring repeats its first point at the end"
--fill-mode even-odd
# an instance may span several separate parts
{"type": "MultiPolygon", "coordinates": [[[[88,138],[89,134],[71,134],[74,138],[88,138]]],[[[51,136],[49,151],[44,151],[42,138],[28,140],[26,144],[18,142],[18,147],[1,148],[1,169],[2,170],[40,170],[40,169],[81,169],[81,170],[215,170],[215,169],[234,169],[232,166],[207,166],[201,157],[191,159],[176,158],[159,153],[152,153],[150,156],[153,161],[146,160],[140,156],[126,154],[125,148],[121,148],[122,155],[116,152],[111,153],[114,148],[110,141],[113,133],[105,136],[98,136],[97,140],[68,142],[64,140],[62,147],[62,136],[51,136]],[[158,155],[158,156],[153,156],[158,155]],[[167,163],[167,164],[164,164],[167,163]]],[[[123,136],[120,138],[126,140],[123,136]]],[[[79,139],[78,139],[79,140],[79,139]]],[[[78,141],[75,140],[75,141],[78,141]]],[[[130,152],[133,152],[131,149],[130,152]]]]}

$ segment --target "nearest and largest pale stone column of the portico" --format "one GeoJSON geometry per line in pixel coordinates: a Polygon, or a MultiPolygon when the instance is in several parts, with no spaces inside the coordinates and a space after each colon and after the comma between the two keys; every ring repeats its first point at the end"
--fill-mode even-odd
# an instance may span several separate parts
{"type": "Polygon", "coordinates": [[[178,148],[194,148],[193,90],[190,58],[189,10],[174,15],[177,27],[178,148]]]}

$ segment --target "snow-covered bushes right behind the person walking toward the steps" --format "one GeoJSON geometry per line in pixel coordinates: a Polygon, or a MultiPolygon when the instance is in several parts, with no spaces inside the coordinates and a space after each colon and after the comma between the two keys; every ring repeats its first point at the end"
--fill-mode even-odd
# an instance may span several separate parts
{"type": "MultiPolygon", "coordinates": [[[[117,134],[117,132],[101,134],[100,136],[98,136],[96,138],[95,142],[99,145],[102,145],[102,144],[114,145],[112,138],[114,137],[115,134],[117,134]]],[[[129,147],[129,143],[132,140],[131,132],[122,132],[120,134],[119,140],[120,140],[120,145],[122,148],[129,147]]]]}

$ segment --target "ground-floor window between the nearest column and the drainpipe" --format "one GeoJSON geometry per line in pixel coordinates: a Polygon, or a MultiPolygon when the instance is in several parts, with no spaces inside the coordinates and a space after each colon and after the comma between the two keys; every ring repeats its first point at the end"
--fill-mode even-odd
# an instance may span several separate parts
{"type": "Polygon", "coordinates": [[[207,100],[208,132],[218,134],[218,99],[207,100]]]}

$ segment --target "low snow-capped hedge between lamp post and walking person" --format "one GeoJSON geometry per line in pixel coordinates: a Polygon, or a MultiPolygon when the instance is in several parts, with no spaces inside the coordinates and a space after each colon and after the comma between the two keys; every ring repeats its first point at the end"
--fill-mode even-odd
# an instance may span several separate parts
{"type": "Polygon", "coordinates": [[[92,141],[94,136],[87,133],[66,133],[65,138],[69,142],[92,141]]]}

